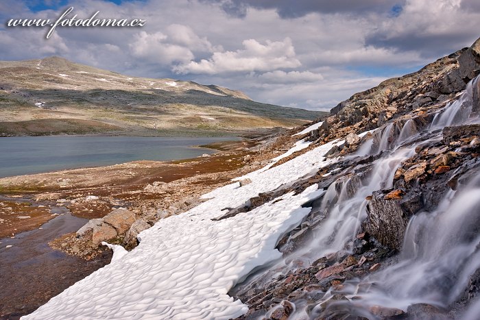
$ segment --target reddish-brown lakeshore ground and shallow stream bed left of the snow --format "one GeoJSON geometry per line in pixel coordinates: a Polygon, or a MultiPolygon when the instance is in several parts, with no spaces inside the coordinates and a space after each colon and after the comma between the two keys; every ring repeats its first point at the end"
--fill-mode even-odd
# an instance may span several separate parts
{"type": "MultiPolygon", "coordinates": [[[[32,219],[33,214],[30,214],[29,219],[10,219],[16,222],[16,230],[7,230],[13,233],[12,238],[9,236],[0,239],[0,254],[8,255],[9,250],[18,250],[14,243],[16,239],[25,238],[25,235],[32,232],[42,234],[41,232],[48,229],[46,225],[56,225],[56,221],[60,221],[58,219],[64,219],[65,215],[52,216],[53,208],[64,208],[68,210],[66,214],[82,221],[104,217],[112,209],[121,207],[132,210],[137,217],[145,217],[145,214],[152,210],[179,214],[188,210],[189,201],[195,206],[197,202],[193,199],[200,199],[200,195],[229,184],[232,178],[259,169],[269,158],[274,158],[274,151],[252,151],[252,147],[261,145],[263,139],[223,141],[199,146],[215,149],[215,153],[205,157],[172,161],[134,161],[106,167],[1,178],[0,195],[8,196],[9,200],[25,198],[30,203],[29,208],[45,206],[40,209],[44,210],[43,214],[48,222],[28,225],[27,220],[32,219]],[[7,248],[8,243],[12,247],[7,248]]],[[[7,219],[4,219],[2,226],[7,223],[7,219]]],[[[43,237],[39,234],[29,238],[31,243],[44,241],[43,249],[29,251],[27,256],[23,256],[27,264],[31,264],[28,272],[25,269],[9,269],[15,283],[23,283],[25,288],[12,288],[19,293],[15,296],[8,295],[8,292],[0,293],[0,319],[18,319],[21,315],[33,312],[73,282],[85,278],[110,262],[111,252],[107,247],[79,245],[75,242],[75,230],[67,234],[62,230],[57,231],[51,230],[56,235],[48,241],[42,240],[43,237]],[[47,258],[45,263],[38,264],[42,256],[63,258],[56,259],[54,266],[50,258],[47,258]],[[75,272],[71,269],[73,262],[77,265],[75,272]],[[42,278],[45,267],[49,268],[49,276],[42,278]],[[64,277],[64,282],[53,281],[56,277],[64,277]],[[40,294],[34,287],[29,290],[29,279],[36,279],[32,285],[45,288],[45,294],[40,294]]],[[[23,243],[23,247],[28,247],[28,242],[23,243]]]]}

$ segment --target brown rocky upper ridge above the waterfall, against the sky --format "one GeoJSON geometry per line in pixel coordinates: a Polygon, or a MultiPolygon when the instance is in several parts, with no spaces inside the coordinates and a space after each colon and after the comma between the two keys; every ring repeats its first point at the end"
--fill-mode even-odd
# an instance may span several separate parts
{"type": "MultiPolygon", "coordinates": [[[[316,130],[310,140],[344,138],[379,127],[394,117],[426,112],[466,88],[480,73],[480,39],[471,47],[424,66],[415,73],[387,79],[379,86],[352,95],[331,109],[327,130],[316,130]]],[[[477,87],[480,84],[477,83],[477,87]]],[[[474,110],[480,110],[476,88],[474,110]]]]}

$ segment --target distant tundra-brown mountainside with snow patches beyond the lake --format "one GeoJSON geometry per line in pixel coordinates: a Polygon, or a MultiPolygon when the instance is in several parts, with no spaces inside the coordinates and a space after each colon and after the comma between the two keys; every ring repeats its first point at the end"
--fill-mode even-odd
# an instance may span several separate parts
{"type": "Polygon", "coordinates": [[[293,127],[322,112],[272,106],[219,86],[128,77],[51,57],[0,62],[0,136],[221,134],[293,127]]]}

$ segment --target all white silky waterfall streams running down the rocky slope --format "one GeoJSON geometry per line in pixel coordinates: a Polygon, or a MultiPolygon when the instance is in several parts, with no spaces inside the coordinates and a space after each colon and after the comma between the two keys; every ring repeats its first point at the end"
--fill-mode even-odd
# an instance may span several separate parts
{"type": "MultiPolygon", "coordinates": [[[[459,99],[437,112],[427,127],[418,127],[414,119],[408,119],[376,130],[373,137],[365,140],[353,157],[348,158],[380,153],[381,158],[374,161],[368,171],[363,171],[363,175],[340,177],[328,187],[320,206],[312,209],[322,217],[311,231],[313,240],[289,254],[287,263],[279,262],[272,269],[285,273],[295,268],[290,262],[301,260],[300,265],[305,266],[329,253],[346,249],[346,244],[359,232],[361,221],[367,217],[365,197],[375,190],[392,188],[396,169],[415,153],[416,147],[442,140],[439,129],[445,126],[479,122],[479,117],[471,115],[472,83],[476,85],[479,81],[480,77],[472,80],[459,99]]],[[[328,306],[343,307],[348,315],[376,319],[370,312],[372,306],[407,310],[411,304],[445,307],[456,301],[470,275],[480,268],[477,226],[480,166],[478,163],[476,166],[470,169],[470,179],[462,176],[457,188],[448,191],[435,210],[410,219],[396,262],[367,278],[344,282],[341,293],[350,301],[336,301],[328,306]]],[[[308,311],[305,299],[293,299],[296,311],[290,319],[317,317],[325,309],[324,302],[334,295],[328,291],[322,299],[317,299],[317,306],[308,311]]],[[[478,319],[476,310],[480,310],[480,300],[467,310],[465,319],[478,319]]]]}

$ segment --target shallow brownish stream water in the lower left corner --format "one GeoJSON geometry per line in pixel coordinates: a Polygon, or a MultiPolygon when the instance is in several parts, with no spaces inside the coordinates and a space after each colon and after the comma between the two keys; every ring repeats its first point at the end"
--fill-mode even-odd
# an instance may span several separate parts
{"type": "Polygon", "coordinates": [[[52,207],[51,212],[58,216],[40,228],[0,239],[0,319],[19,319],[33,312],[110,262],[108,251],[95,260],[86,261],[51,249],[50,241],[75,232],[88,221],[73,216],[62,206],[52,207]]]}

